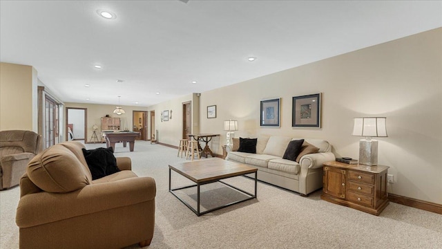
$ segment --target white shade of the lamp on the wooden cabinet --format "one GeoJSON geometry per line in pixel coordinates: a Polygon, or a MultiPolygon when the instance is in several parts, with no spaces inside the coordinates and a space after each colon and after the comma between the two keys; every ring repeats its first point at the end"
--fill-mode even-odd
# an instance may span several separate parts
{"type": "Polygon", "coordinates": [[[387,118],[354,118],[353,136],[387,137],[387,118]]]}

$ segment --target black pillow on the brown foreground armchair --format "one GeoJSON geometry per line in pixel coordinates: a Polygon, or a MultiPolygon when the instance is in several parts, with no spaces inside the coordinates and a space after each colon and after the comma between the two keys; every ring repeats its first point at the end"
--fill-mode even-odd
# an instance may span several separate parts
{"type": "Polygon", "coordinates": [[[82,149],[86,163],[92,174],[92,180],[119,172],[117,158],[113,156],[112,147],[97,149],[82,149]]]}

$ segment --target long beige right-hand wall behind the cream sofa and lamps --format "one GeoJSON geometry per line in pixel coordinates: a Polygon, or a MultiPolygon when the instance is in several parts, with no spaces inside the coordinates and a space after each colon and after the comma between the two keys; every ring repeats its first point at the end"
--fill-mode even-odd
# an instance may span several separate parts
{"type": "MultiPolygon", "coordinates": [[[[222,134],[211,144],[218,154],[226,142],[222,121],[232,119],[238,120],[236,137],[323,138],[336,156],[358,158],[353,118],[385,116],[388,137],[378,139],[378,162],[394,175],[388,191],[442,204],[441,44],[438,28],[201,93],[200,131],[222,134]],[[323,93],[322,128],[291,127],[292,97],[312,93],[323,93]],[[282,99],[281,127],[261,128],[260,100],[271,98],[282,99]],[[206,107],[213,104],[217,118],[208,119],[206,107]]],[[[170,131],[180,118],[166,124],[157,127],[160,140],[177,145],[180,132],[170,131]]]]}

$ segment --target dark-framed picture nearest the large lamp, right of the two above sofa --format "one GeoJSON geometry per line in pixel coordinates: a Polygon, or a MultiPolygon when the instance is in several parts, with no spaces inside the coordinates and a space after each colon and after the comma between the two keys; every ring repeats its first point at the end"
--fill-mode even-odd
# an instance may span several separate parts
{"type": "Polygon", "coordinates": [[[293,97],[292,127],[320,128],[321,93],[293,97]]]}

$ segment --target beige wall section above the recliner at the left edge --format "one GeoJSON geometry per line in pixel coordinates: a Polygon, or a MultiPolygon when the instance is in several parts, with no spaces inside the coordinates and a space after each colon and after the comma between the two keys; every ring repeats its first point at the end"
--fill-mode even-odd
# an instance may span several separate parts
{"type": "Polygon", "coordinates": [[[0,130],[38,132],[37,71],[32,66],[0,63],[0,130]]]}

